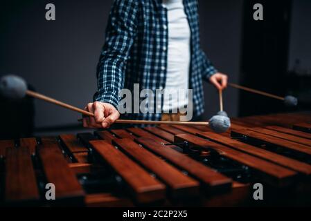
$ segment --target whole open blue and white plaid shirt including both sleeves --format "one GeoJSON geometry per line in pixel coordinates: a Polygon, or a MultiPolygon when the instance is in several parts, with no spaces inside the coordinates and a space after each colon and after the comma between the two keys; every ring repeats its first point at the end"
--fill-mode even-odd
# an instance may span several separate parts
{"type": "MultiPolygon", "coordinates": [[[[208,80],[217,72],[199,46],[197,7],[196,0],[184,0],[191,32],[189,85],[193,89],[193,116],[204,112],[202,79],[208,80]]],[[[98,91],[94,100],[117,108],[121,99],[118,93],[122,88],[133,91],[133,84],[139,84],[140,90],[151,89],[154,95],[156,89],[165,88],[167,48],[168,17],[161,0],[115,0],[98,62],[98,91]]],[[[155,103],[151,104],[154,110],[159,108],[155,103]]],[[[125,114],[122,117],[160,120],[161,113],[125,114]]]]}

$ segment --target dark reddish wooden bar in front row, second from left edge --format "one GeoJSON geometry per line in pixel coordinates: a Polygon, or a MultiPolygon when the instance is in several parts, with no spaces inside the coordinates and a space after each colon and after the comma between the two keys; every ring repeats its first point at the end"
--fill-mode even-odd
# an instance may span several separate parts
{"type": "Polygon", "coordinates": [[[62,151],[53,142],[43,142],[37,148],[46,181],[55,185],[55,198],[59,201],[72,200],[77,204],[83,200],[84,191],[69,168],[62,151]]]}

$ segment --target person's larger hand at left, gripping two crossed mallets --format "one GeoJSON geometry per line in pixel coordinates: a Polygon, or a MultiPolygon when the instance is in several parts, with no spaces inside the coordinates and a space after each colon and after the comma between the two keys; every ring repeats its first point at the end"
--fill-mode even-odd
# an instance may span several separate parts
{"type": "Polygon", "coordinates": [[[83,126],[87,128],[109,128],[120,117],[120,113],[112,104],[103,102],[89,103],[85,111],[95,115],[95,117],[83,116],[83,126]]]}

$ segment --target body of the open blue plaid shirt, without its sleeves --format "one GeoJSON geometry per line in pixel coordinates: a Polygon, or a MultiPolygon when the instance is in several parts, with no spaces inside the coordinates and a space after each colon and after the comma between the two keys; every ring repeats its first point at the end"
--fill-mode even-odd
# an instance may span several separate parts
{"type": "MultiPolygon", "coordinates": [[[[137,17],[137,33],[130,56],[127,58],[125,69],[125,88],[133,91],[134,84],[139,84],[139,90],[150,89],[156,93],[157,89],[166,87],[168,77],[168,10],[161,0],[139,1],[139,15],[137,17]]],[[[188,20],[190,30],[190,64],[187,88],[193,89],[193,106],[195,115],[204,111],[202,87],[202,59],[199,55],[199,19],[196,0],[184,0],[184,15],[188,20]]],[[[183,39],[185,42],[186,40],[183,39]]],[[[143,100],[144,98],[141,98],[143,100]]],[[[163,97],[162,97],[163,99],[163,97]]],[[[148,104],[156,108],[163,108],[163,100],[154,99],[148,104]],[[160,101],[160,103],[157,103],[160,101]]],[[[132,116],[131,116],[132,117],[132,116]]],[[[135,119],[160,119],[161,114],[137,115],[135,119]]]]}

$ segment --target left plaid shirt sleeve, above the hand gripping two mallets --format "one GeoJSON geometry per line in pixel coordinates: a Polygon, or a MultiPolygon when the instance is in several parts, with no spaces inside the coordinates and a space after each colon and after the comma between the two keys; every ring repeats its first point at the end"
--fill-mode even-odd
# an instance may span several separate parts
{"type": "Polygon", "coordinates": [[[118,93],[124,86],[125,68],[136,36],[138,1],[115,0],[109,14],[106,41],[97,66],[98,90],[94,101],[118,108],[118,93]]]}

